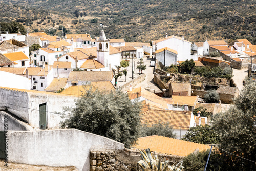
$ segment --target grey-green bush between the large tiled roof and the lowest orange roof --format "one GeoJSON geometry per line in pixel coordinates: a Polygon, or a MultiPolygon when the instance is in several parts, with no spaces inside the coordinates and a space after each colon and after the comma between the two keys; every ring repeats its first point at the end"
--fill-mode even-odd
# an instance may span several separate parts
{"type": "Polygon", "coordinates": [[[162,124],[161,122],[148,126],[147,124],[141,125],[140,137],[151,135],[160,135],[169,138],[176,138],[172,126],[169,123],[162,124]]]}

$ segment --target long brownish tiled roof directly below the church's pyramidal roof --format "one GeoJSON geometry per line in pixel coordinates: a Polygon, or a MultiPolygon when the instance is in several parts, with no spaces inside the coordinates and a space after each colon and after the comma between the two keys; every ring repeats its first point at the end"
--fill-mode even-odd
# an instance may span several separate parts
{"type": "Polygon", "coordinates": [[[69,74],[68,81],[111,81],[112,71],[73,71],[69,74]]]}

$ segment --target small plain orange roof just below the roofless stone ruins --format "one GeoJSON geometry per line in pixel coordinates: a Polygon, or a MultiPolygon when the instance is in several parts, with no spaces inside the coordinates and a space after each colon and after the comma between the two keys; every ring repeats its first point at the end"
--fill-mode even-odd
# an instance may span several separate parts
{"type": "Polygon", "coordinates": [[[174,104],[184,105],[187,104],[189,106],[195,106],[198,101],[197,96],[172,96],[174,104]]]}

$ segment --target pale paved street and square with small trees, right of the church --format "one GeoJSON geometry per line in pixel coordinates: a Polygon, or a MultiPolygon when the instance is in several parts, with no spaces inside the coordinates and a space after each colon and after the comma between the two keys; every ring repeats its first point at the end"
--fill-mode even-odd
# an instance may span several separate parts
{"type": "MultiPolygon", "coordinates": [[[[135,87],[142,87],[142,88],[150,88],[150,89],[154,89],[155,92],[162,92],[161,89],[154,83],[154,67],[150,66],[150,61],[152,60],[152,58],[146,58],[146,55],[144,55],[143,58],[143,62],[144,65],[146,65],[146,70],[143,71],[143,73],[145,73],[146,77],[145,80],[139,84],[137,84],[135,87]]],[[[129,59],[130,61],[130,65],[129,67],[127,67],[127,76],[126,76],[126,82],[125,82],[125,76],[121,76],[118,78],[117,80],[117,84],[118,86],[122,86],[123,84],[129,82],[132,80],[132,59],[129,59]]],[[[136,69],[137,67],[137,62],[139,61],[139,59],[134,59],[135,62],[135,72],[134,72],[134,76],[135,78],[139,76],[139,70],[136,69]]],[[[125,69],[125,68],[124,68],[125,69]]],[[[122,68],[121,68],[122,70],[122,68]]]]}

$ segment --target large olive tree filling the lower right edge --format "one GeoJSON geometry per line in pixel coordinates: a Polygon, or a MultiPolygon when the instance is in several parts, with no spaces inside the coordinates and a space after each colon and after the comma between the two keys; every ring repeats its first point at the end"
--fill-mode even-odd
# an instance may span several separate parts
{"type": "MultiPolygon", "coordinates": [[[[220,135],[220,147],[235,155],[256,161],[256,83],[246,86],[234,100],[234,106],[214,116],[212,126],[220,135]]],[[[239,170],[256,170],[255,163],[233,157],[239,170]],[[242,167],[242,168],[241,168],[242,167]]]]}

